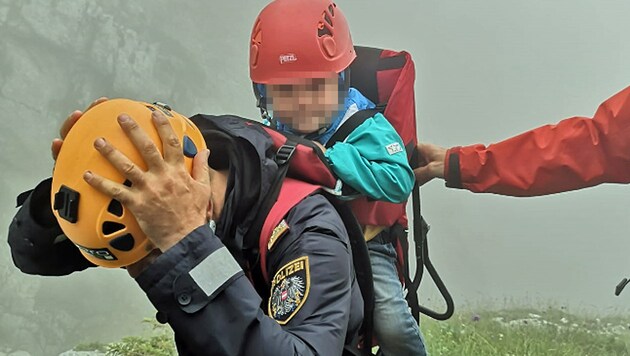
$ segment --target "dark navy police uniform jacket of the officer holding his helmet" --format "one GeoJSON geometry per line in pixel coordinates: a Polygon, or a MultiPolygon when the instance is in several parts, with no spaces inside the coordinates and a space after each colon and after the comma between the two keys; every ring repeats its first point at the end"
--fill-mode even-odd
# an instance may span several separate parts
{"type": "MultiPolygon", "coordinates": [[[[262,180],[252,184],[244,178],[262,174],[268,179],[274,170],[264,156],[267,147],[259,145],[264,140],[258,129],[241,128],[236,118],[222,119],[237,128],[240,139],[227,140],[236,147],[227,141],[219,147],[206,137],[208,146],[215,154],[223,149],[241,159],[230,165],[217,234],[200,226],[161,255],[137,283],[158,310],[158,319],[175,331],[181,355],[358,354],[363,300],[344,224],[326,198],[307,197],[285,217],[284,234],[268,253],[272,280],[267,295],[257,293],[246,277],[249,271],[234,258],[261,192],[266,192],[262,180]],[[245,190],[252,185],[258,189],[245,190]]],[[[51,218],[49,194],[50,179],[31,192],[11,223],[15,265],[40,275],[92,266],[69,240],[56,238],[62,232],[51,218]]]]}

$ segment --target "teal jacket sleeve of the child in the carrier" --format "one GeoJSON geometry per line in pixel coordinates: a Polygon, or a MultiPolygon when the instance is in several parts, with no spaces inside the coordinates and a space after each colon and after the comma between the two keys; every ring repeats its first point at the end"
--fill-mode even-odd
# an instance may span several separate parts
{"type": "Polygon", "coordinates": [[[414,184],[402,139],[380,113],[325,153],[334,173],[359,193],[392,203],[404,202],[414,184]]]}

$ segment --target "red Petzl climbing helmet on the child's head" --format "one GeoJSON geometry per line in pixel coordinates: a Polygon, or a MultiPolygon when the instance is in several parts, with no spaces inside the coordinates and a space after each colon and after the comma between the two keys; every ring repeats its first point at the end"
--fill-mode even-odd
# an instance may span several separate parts
{"type": "Polygon", "coordinates": [[[275,0],[251,34],[249,74],[258,84],[340,73],[356,54],[343,13],[331,0],[275,0]]]}

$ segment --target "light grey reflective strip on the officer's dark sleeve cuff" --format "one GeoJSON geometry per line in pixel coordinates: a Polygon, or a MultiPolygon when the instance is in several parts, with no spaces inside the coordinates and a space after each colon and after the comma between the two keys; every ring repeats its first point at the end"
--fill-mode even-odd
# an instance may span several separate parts
{"type": "Polygon", "coordinates": [[[224,246],[206,257],[189,274],[209,297],[240,272],[241,266],[224,246]]]}

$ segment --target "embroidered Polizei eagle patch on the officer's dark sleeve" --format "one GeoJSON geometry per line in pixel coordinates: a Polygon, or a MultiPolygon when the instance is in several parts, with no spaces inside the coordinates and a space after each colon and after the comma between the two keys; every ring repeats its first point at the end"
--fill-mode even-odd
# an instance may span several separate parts
{"type": "Polygon", "coordinates": [[[288,323],[304,305],[310,288],[308,256],[285,264],[271,281],[267,313],[280,325],[288,323]]]}

